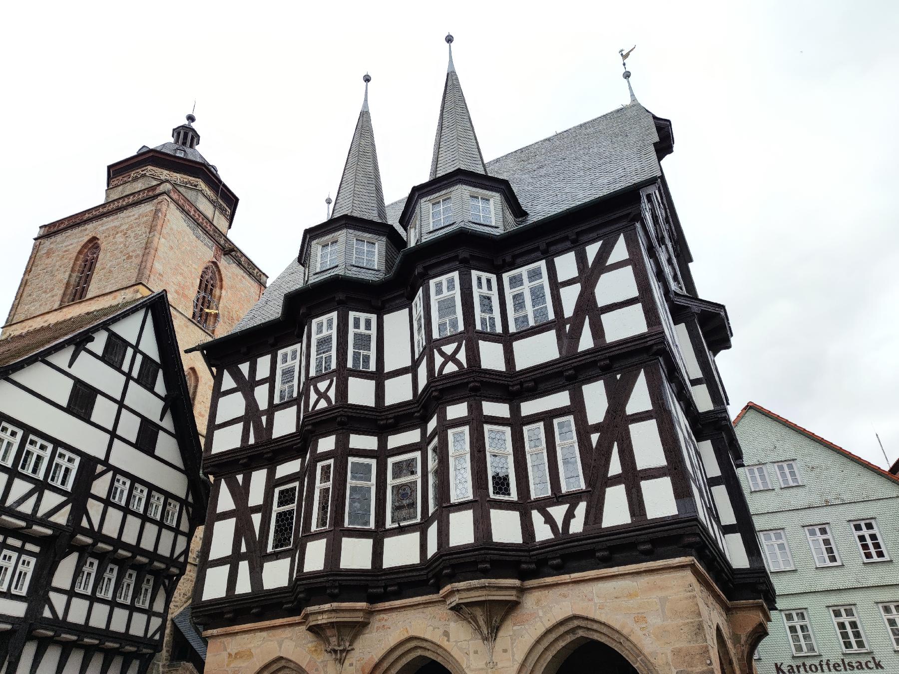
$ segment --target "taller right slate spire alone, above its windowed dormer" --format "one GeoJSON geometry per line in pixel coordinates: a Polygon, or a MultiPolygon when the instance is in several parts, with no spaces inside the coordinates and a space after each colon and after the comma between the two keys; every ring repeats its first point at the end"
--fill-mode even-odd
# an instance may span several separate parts
{"type": "Polygon", "coordinates": [[[458,83],[456,67],[452,62],[452,35],[447,35],[449,66],[443,86],[441,117],[434,137],[434,155],[431,160],[431,180],[458,168],[476,173],[487,173],[481,147],[477,144],[475,127],[468,114],[468,106],[462,86],[458,83]]]}

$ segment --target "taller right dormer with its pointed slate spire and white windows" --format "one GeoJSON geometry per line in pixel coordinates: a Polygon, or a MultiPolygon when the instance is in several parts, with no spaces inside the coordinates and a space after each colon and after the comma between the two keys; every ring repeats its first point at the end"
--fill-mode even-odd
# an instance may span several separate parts
{"type": "Polygon", "coordinates": [[[428,182],[406,200],[400,224],[409,245],[458,227],[501,233],[527,214],[509,182],[487,174],[475,125],[452,60],[452,35],[446,37],[449,64],[434,135],[428,182]]]}

